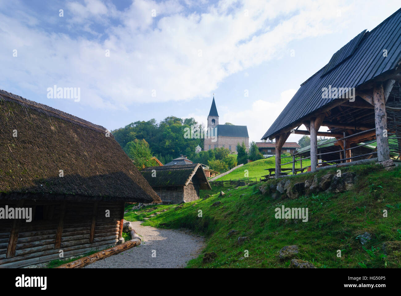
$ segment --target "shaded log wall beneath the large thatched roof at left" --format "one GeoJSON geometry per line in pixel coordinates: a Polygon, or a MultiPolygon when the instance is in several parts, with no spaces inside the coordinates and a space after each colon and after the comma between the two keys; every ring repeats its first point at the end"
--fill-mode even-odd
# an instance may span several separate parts
{"type": "MultiPolygon", "coordinates": [[[[16,201],[0,201],[0,207],[5,205],[17,207],[16,201]]],[[[60,250],[67,258],[113,246],[124,209],[120,201],[24,201],[19,207],[32,207],[33,218],[0,219],[0,268],[57,260],[60,250]]]]}

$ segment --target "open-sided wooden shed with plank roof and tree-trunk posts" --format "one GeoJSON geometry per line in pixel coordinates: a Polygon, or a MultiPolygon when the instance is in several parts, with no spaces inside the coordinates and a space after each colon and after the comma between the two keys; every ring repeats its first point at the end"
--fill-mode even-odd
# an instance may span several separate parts
{"type": "Polygon", "coordinates": [[[291,133],[310,135],[312,172],[319,156],[317,136],[336,138],[333,142],[341,146],[346,162],[353,160],[354,144],[369,140],[377,142],[375,159],[389,160],[390,136],[391,150],[400,152],[400,44],[401,9],[370,32],[360,32],[302,83],[262,137],[276,139],[276,177],[282,146],[291,133]],[[307,130],[299,130],[302,124],[307,130]],[[327,132],[319,132],[320,126],[327,126],[327,132]]]}

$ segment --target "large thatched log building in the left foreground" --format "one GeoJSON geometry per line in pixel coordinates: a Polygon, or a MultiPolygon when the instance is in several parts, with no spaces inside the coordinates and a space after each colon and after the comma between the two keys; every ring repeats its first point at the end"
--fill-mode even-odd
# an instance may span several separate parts
{"type": "Polygon", "coordinates": [[[124,202],[160,202],[102,126],[0,91],[0,135],[0,268],[113,246],[124,202]]]}

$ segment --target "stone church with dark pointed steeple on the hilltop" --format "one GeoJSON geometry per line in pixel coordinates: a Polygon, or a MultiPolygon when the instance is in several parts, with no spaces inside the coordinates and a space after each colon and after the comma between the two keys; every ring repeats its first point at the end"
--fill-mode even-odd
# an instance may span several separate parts
{"type": "Polygon", "coordinates": [[[207,135],[205,136],[204,150],[213,148],[226,148],[231,152],[237,152],[238,143],[245,143],[246,150],[249,151],[249,136],[247,126],[234,126],[219,124],[219,114],[217,113],[215,96],[213,95],[212,106],[207,117],[207,135]]]}

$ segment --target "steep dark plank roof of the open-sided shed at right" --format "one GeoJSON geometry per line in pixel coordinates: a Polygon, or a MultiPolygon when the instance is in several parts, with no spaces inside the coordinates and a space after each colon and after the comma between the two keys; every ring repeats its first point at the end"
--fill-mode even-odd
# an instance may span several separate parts
{"type": "MultiPolygon", "coordinates": [[[[401,60],[401,9],[373,30],[362,31],[338,50],[329,63],[312,75],[296,92],[262,140],[288,130],[320,109],[330,105],[346,91],[322,98],[322,88],[358,87],[374,78],[397,73],[401,60]],[[384,50],[387,52],[385,57],[384,50]],[[331,98],[330,98],[331,97],[331,98]]],[[[399,71],[399,70],[398,70],[399,71]]]]}

